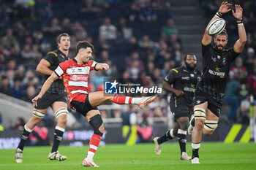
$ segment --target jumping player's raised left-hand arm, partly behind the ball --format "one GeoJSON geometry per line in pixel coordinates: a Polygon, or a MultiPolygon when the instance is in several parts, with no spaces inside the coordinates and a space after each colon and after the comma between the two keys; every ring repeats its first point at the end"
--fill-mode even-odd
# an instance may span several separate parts
{"type": "Polygon", "coordinates": [[[219,7],[219,11],[216,13],[216,15],[214,15],[214,18],[212,18],[210,20],[210,22],[208,23],[208,25],[206,26],[206,31],[203,34],[203,39],[202,39],[202,44],[203,45],[208,45],[211,43],[211,36],[208,35],[207,33],[207,28],[208,26],[214,21],[217,20],[218,18],[222,17],[222,14],[229,12],[231,9],[229,9],[229,7],[232,6],[232,4],[229,4],[227,1],[223,1],[222,5],[219,7]]]}

